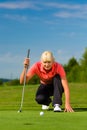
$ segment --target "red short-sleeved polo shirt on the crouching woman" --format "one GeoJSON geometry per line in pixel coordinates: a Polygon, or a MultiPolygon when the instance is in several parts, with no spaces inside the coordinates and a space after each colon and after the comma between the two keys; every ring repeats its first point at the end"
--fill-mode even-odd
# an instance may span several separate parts
{"type": "Polygon", "coordinates": [[[50,84],[52,82],[52,78],[59,74],[61,78],[66,76],[64,68],[61,64],[54,62],[52,65],[52,69],[48,71],[44,70],[41,62],[36,62],[32,65],[32,67],[28,70],[27,76],[32,75],[32,77],[36,74],[40,78],[40,82],[43,84],[50,84]]]}

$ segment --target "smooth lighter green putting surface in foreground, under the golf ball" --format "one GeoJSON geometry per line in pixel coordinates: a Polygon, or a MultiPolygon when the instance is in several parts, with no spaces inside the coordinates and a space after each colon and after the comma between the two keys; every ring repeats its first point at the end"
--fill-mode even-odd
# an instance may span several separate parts
{"type": "Polygon", "coordinates": [[[0,111],[1,130],[87,130],[87,112],[0,111]]]}

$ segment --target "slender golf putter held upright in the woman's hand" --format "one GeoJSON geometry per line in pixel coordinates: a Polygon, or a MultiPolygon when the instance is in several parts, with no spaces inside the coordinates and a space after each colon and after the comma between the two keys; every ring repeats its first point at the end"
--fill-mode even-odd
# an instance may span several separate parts
{"type": "MultiPolygon", "coordinates": [[[[29,58],[29,55],[30,55],[30,49],[28,49],[27,58],[29,58]]],[[[27,72],[27,69],[26,69],[26,72],[27,72]]],[[[26,72],[24,74],[24,85],[23,85],[23,90],[22,90],[21,105],[20,105],[20,109],[18,110],[18,112],[22,112],[23,101],[24,101],[24,88],[25,88],[25,85],[26,85],[26,72]]]]}

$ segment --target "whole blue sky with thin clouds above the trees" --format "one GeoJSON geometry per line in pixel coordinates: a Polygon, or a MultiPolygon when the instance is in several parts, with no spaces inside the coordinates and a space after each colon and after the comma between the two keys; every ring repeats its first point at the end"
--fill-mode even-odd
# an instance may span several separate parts
{"type": "Polygon", "coordinates": [[[30,49],[30,67],[43,51],[78,61],[87,47],[86,0],[0,0],[0,78],[19,78],[30,49]]]}

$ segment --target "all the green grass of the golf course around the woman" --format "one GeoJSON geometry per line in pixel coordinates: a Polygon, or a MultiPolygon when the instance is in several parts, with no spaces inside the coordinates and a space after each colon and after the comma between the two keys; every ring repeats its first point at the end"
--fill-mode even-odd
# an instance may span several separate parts
{"type": "MultiPolygon", "coordinates": [[[[0,87],[1,130],[86,130],[87,129],[87,84],[70,83],[71,105],[74,113],[45,111],[40,116],[41,106],[34,98],[38,85],[27,85],[23,111],[20,108],[23,86],[0,87]]],[[[63,105],[64,109],[64,95],[63,105]]]]}

